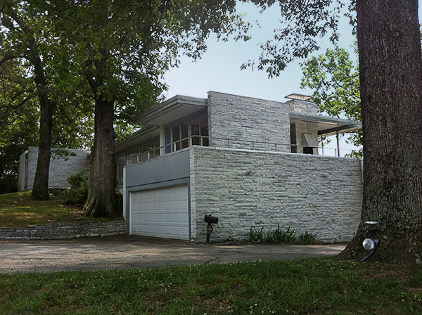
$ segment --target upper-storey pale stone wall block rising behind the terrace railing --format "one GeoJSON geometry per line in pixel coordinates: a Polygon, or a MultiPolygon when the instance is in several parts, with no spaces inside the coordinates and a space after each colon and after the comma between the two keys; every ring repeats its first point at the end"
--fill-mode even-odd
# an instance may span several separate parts
{"type": "Polygon", "coordinates": [[[290,143],[289,105],[259,98],[236,96],[210,91],[208,93],[208,128],[210,146],[243,149],[264,149],[290,152],[290,146],[260,145],[250,141],[290,143]]]}

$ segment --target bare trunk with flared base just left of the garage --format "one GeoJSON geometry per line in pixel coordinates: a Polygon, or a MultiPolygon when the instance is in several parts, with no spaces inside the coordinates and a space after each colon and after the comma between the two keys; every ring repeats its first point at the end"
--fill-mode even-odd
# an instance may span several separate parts
{"type": "Polygon", "coordinates": [[[89,193],[84,205],[91,217],[115,217],[114,102],[96,97],[94,146],[91,150],[89,193]]]}

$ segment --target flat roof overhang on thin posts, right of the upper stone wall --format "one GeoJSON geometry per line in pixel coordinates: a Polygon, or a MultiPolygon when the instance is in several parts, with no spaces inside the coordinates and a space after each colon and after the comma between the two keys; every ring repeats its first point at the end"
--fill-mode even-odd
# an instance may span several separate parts
{"type": "Polygon", "coordinates": [[[302,122],[315,122],[318,124],[319,136],[332,136],[339,132],[355,131],[362,129],[362,123],[353,120],[343,120],[342,118],[328,117],[323,115],[312,115],[305,113],[290,112],[290,120],[298,120],[302,122]]]}

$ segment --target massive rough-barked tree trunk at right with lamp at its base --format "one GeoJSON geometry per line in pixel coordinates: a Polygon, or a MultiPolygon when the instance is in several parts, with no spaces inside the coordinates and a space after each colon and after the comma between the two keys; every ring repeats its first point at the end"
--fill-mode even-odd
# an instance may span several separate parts
{"type": "Polygon", "coordinates": [[[364,199],[340,258],[418,262],[422,255],[422,69],[417,0],[357,0],[364,199]],[[369,231],[365,221],[378,221],[369,231]]]}

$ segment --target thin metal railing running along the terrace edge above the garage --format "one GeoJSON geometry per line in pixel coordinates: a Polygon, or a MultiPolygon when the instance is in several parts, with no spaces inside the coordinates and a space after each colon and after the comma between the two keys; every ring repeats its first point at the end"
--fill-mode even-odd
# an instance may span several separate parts
{"type": "MultiPolygon", "coordinates": [[[[227,139],[210,136],[188,136],[184,139],[167,143],[164,146],[153,148],[142,153],[132,153],[127,157],[127,165],[146,162],[159,156],[169,154],[190,146],[212,146],[214,148],[230,148],[239,150],[256,150],[263,152],[298,153],[300,148],[312,148],[312,154],[324,156],[345,157],[354,152],[350,149],[328,148],[326,146],[304,146],[292,143],[276,143],[252,140],[227,139]]],[[[302,152],[300,152],[302,153],[302,152]]]]}

